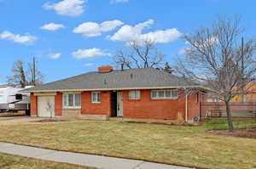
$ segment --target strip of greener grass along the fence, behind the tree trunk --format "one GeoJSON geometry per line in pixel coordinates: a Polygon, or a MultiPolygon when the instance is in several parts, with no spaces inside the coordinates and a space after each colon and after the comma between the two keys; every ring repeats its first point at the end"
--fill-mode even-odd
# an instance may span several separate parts
{"type": "MultiPolygon", "coordinates": [[[[218,130],[229,129],[229,125],[227,121],[206,121],[205,126],[209,129],[218,129],[218,130]]],[[[256,121],[233,121],[233,126],[235,129],[252,128],[252,127],[256,127],[256,121]]]]}

